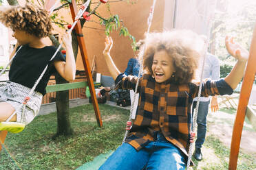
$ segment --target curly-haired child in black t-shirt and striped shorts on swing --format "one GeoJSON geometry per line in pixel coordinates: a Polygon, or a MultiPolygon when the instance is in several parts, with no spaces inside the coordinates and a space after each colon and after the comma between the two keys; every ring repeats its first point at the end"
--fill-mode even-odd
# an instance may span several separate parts
{"type": "MultiPolygon", "coordinates": [[[[6,121],[16,110],[17,114],[10,121],[21,123],[22,111],[19,107],[56,51],[56,47],[47,46],[43,42],[43,38],[52,31],[52,24],[48,12],[32,4],[1,9],[0,22],[10,27],[13,31],[12,36],[17,39],[17,44],[10,55],[11,59],[17,52],[10,66],[10,81],[0,88],[0,121],[6,121]]],[[[58,51],[49,63],[47,71],[25,107],[25,121],[22,122],[25,125],[39,112],[45,87],[52,73],[58,71],[67,81],[75,78],[76,63],[71,35],[63,35],[62,40],[67,51],[66,58],[58,51]]]]}

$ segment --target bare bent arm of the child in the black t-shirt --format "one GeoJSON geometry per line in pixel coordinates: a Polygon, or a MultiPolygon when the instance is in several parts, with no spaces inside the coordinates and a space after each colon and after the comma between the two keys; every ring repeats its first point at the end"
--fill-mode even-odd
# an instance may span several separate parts
{"type": "Polygon", "coordinates": [[[76,61],[72,49],[72,38],[70,33],[63,34],[63,44],[66,47],[66,62],[55,61],[54,66],[58,73],[67,81],[72,81],[76,77],[76,61]]]}

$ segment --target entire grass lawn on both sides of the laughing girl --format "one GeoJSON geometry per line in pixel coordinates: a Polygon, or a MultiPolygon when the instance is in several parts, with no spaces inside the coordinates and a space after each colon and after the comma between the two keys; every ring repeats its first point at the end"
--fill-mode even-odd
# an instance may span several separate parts
{"type": "MultiPolygon", "coordinates": [[[[70,109],[72,136],[52,140],[56,132],[56,112],[36,117],[19,134],[8,134],[7,151],[3,149],[0,153],[0,169],[76,169],[96,156],[116,149],[122,143],[129,110],[103,104],[99,107],[102,128],[96,123],[93,106],[85,105],[70,109]]],[[[226,114],[234,116],[235,111],[227,110],[226,114]]],[[[202,148],[204,159],[200,162],[193,159],[196,165],[193,169],[228,168],[229,148],[214,130],[209,129],[216,123],[223,122],[210,119],[208,130],[211,132],[207,133],[202,148]]],[[[256,169],[255,156],[241,151],[237,169],[256,169]]]]}

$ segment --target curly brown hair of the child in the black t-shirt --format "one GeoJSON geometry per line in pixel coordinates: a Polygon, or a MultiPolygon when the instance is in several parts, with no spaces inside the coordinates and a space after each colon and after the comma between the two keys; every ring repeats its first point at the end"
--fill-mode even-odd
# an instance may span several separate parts
{"type": "Polygon", "coordinates": [[[22,30],[38,38],[48,36],[52,31],[48,12],[30,3],[1,9],[0,22],[12,30],[22,30]]]}

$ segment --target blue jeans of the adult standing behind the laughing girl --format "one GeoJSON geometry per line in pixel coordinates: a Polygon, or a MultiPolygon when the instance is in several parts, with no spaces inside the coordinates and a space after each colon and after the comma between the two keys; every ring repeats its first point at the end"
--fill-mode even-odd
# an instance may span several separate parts
{"type": "MultiPolygon", "coordinates": [[[[193,111],[196,107],[196,101],[193,102],[193,111]]],[[[196,122],[198,123],[198,137],[195,141],[195,147],[201,148],[205,141],[205,135],[206,135],[206,117],[209,110],[209,103],[210,101],[200,101],[199,108],[198,108],[198,119],[196,122]]]]}

